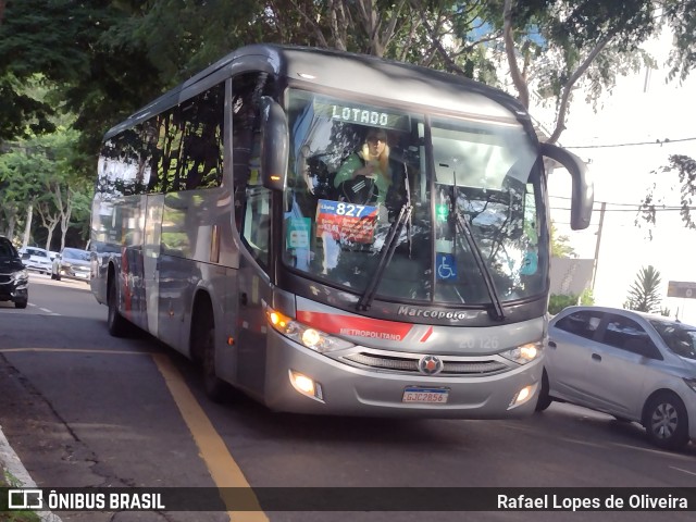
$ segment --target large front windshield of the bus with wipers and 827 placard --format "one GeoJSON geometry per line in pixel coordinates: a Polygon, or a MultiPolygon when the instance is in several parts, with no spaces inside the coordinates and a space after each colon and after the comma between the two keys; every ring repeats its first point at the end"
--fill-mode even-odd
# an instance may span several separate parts
{"type": "Polygon", "coordinates": [[[288,100],[287,266],[361,295],[389,238],[380,299],[481,307],[546,291],[542,169],[512,116],[446,117],[298,89],[288,100]]]}

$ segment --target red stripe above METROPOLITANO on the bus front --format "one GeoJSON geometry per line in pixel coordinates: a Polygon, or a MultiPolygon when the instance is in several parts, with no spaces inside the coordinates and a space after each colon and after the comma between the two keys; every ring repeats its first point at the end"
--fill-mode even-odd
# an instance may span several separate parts
{"type": "Polygon", "coordinates": [[[307,310],[298,310],[297,320],[327,334],[388,340],[403,340],[413,326],[408,323],[383,321],[381,319],[310,312],[307,310]]]}

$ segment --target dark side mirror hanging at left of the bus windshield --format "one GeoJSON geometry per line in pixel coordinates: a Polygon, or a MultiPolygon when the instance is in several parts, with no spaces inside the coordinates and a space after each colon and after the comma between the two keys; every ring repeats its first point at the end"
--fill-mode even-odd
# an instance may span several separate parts
{"type": "Polygon", "coordinates": [[[263,186],[285,190],[289,134],[283,108],[272,98],[261,98],[261,176],[263,186]]]}

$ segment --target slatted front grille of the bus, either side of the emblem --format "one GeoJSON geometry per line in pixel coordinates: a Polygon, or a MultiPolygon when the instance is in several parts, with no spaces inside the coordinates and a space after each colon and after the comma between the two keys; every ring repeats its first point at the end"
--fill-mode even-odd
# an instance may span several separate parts
{"type": "MultiPolygon", "coordinates": [[[[418,369],[418,359],[408,357],[391,357],[375,353],[351,353],[344,356],[341,359],[357,363],[363,366],[370,366],[381,370],[394,370],[397,372],[420,373],[418,369]]],[[[443,371],[437,375],[492,375],[509,370],[509,366],[496,360],[483,361],[458,361],[443,359],[443,371]]]]}

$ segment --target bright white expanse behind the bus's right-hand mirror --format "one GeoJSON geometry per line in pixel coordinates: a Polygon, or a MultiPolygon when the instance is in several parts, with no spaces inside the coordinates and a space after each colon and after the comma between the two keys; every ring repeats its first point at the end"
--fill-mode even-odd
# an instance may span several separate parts
{"type": "MultiPolygon", "coordinates": [[[[669,39],[663,38],[652,42],[650,50],[658,63],[663,63],[668,49],[669,39]]],[[[570,211],[564,210],[570,208],[570,176],[557,171],[549,176],[551,220],[560,235],[569,236],[580,258],[592,259],[597,248],[600,203],[606,202],[595,303],[622,307],[638,271],[651,264],[661,274],[663,307],[672,316],[679,311],[682,321],[696,324],[696,299],[667,298],[669,281],[696,282],[696,231],[686,229],[675,211],[657,214],[651,240],[647,226],[635,225],[637,206],[656,181],[660,181],[666,204],[680,202],[676,174],[658,175],[654,171],[667,165],[670,154],[696,159],[696,72],[682,84],[668,84],[666,78],[667,69],[651,71],[647,83],[645,69],[621,77],[597,112],[576,96],[559,145],[588,162],[595,183],[595,211],[587,229],[570,229],[570,211]],[[667,139],[669,144],[656,144],[667,139]],[[650,145],[625,145],[645,142],[650,145]],[[623,146],[608,147],[613,145],[623,146]]],[[[534,115],[533,109],[531,112],[534,115]]]]}

